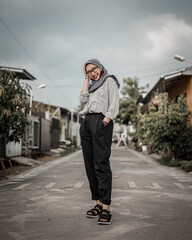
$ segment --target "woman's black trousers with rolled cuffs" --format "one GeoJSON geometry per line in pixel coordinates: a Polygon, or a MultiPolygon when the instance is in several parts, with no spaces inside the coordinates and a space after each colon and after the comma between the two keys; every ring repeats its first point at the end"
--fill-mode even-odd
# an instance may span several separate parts
{"type": "Polygon", "coordinates": [[[102,113],[86,114],[80,126],[81,145],[92,200],[111,203],[112,172],[109,158],[113,134],[113,121],[105,127],[102,113]]]}

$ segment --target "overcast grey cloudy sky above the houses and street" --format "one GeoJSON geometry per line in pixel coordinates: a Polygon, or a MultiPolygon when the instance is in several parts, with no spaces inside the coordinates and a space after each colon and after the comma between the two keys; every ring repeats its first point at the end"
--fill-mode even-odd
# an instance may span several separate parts
{"type": "MultiPolygon", "coordinates": [[[[83,63],[98,58],[122,83],[150,88],[192,59],[191,0],[0,0],[0,65],[25,68],[34,100],[79,104],[83,63]]],[[[150,90],[149,88],[149,90],[150,90]]]]}

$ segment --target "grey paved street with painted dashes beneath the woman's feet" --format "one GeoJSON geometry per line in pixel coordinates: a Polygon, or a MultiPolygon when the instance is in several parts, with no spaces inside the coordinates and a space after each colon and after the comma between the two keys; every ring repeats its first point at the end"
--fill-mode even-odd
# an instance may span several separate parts
{"type": "Polygon", "coordinates": [[[116,146],[111,167],[111,225],[85,217],[95,203],[78,151],[1,185],[0,239],[192,239],[192,174],[116,146]]]}

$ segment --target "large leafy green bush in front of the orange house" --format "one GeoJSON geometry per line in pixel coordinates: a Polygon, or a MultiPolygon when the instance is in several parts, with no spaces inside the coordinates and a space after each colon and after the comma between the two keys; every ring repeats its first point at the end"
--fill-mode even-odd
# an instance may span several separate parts
{"type": "Polygon", "coordinates": [[[171,150],[176,160],[189,156],[192,126],[191,112],[187,108],[185,96],[180,96],[177,103],[164,98],[159,102],[158,111],[150,111],[141,117],[146,138],[153,151],[171,150]]]}

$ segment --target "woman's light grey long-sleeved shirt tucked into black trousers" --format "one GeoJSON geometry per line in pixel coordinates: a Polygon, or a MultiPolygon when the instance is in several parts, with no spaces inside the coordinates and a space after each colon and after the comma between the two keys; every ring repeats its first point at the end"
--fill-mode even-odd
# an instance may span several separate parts
{"type": "Polygon", "coordinates": [[[114,119],[119,112],[119,91],[113,78],[108,77],[103,85],[92,93],[80,92],[79,101],[84,102],[83,113],[103,113],[114,119]]]}

